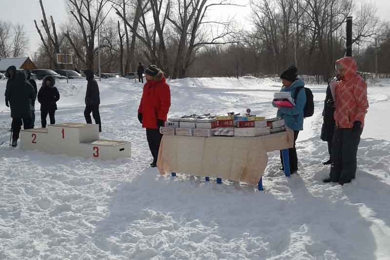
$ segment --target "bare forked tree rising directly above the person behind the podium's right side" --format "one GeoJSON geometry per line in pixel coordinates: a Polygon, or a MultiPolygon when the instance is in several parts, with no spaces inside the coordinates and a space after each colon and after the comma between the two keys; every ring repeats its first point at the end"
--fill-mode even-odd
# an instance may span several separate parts
{"type": "Polygon", "coordinates": [[[76,20],[83,39],[83,45],[85,46],[85,54],[80,53],[76,43],[73,41],[69,30],[66,32],[69,43],[73,46],[78,58],[86,64],[88,69],[94,69],[94,58],[97,54],[97,48],[95,48],[95,36],[98,32],[98,28],[104,22],[107,17],[107,12],[103,15],[104,7],[109,0],[98,0],[95,7],[95,0],[68,0],[68,6],[70,8],[70,14],[73,19],[76,20]],[[99,17],[102,16],[100,19],[99,17]]]}

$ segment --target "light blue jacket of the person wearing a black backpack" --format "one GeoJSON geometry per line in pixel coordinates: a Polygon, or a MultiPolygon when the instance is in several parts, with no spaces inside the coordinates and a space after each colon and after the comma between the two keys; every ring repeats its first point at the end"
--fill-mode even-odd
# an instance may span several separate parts
{"type": "MultiPolygon", "coordinates": [[[[296,88],[305,86],[305,82],[302,79],[295,80],[290,87],[282,87],[280,92],[290,92],[291,97],[294,98],[296,88]]],[[[301,89],[296,97],[295,107],[293,108],[280,108],[277,111],[276,116],[280,116],[284,119],[286,126],[290,129],[299,131],[303,130],[303,109],[306,104],[306,93],[304,89],[301,89]]],[[[273,105],[275,107],[275,105],[273,105]]]]}

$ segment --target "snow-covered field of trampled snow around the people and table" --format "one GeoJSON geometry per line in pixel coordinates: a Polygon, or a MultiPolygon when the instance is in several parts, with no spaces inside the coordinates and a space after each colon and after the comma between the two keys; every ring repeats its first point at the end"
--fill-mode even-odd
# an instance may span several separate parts
{"type": "MultiPolygon", "coordinates": [[[[5,80],[0,80],[4,93],[5,80]]],[[[39,85],[41,81],[38,82],[39,85]]],[[[271,79],[168,82],[171,116],[243,112],[271,117],[271,79]]],[[[323,184],[320,140],[324,85],[298,138],[298,175],[284,177],[269,154],[264,192],[252,186],[150,168],[137,120],[142,85],[100,85],[102,137],[132,142],[131,160],[102,162],[8,147],[9,110],[0,98],[0,260],[388,260],[390,259],[390,80],[369,87],[370,109],[356,179],[323,184]]],[[[85,80],[58,82],[56,119],[84,122],[85,80]]],[[[38,106],[39,110],[39,106],[38,106]]],[[[40,125],[37,111],[36,126],[40,125]]]]}

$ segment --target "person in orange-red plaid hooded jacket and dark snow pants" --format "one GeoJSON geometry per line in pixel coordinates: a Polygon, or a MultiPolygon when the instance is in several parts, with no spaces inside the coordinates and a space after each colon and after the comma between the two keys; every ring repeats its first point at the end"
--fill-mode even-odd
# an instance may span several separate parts
{"type": "Polygon", "coordinates": [[[335,111],[331,173],[324,183],[335,182],[340,185],[350,183],[356,175],[357,147],[364,128],[369,102],[367,84],[357,74],[356,61],[343,57],[335,62],[336,74],[340,81],[335,87],[335,111]]]}

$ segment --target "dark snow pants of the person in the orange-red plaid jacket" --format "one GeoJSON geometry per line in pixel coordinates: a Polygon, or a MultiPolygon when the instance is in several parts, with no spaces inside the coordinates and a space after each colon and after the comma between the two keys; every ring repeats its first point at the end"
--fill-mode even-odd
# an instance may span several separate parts
{"type": "Polygon", "coordinates": [[[345,184],[355,178],[357,147],[362,131],[353,131],[350,128],[336,128],[334,130],[330,174],[330,179],[333,182],[345,184]]]}

